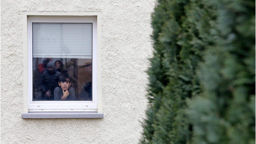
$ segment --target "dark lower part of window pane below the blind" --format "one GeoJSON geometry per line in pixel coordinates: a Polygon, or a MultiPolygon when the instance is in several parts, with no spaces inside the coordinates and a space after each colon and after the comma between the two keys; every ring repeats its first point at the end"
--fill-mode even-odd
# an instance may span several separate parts
{"type": "Polygon", "coordinates": [[[33,58],[33,100],[62,100],[65,93],[65,100],[92,100],[92,59],[33,58]]]}

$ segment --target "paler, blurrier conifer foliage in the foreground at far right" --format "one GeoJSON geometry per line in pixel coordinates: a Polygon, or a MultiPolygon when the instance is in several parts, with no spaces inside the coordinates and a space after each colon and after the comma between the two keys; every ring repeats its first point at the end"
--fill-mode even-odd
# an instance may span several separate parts
{"type": "MultiPolygon", "coordinates": [[[[204,1],[216,8],[198,78],[188,100],[193,143],[255,143],[255,1],[204,1]]],[[[201,31],[201,35],[204,31],[201,31]]]]}

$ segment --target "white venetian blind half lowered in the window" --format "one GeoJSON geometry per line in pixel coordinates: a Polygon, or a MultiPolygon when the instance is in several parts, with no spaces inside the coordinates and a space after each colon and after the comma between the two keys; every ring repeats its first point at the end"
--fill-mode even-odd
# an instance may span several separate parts
{"type": "Polygon", "coordinates": [[[33,23],[32,29],[33,57],[92,57],[92,23],[33,23]]]}

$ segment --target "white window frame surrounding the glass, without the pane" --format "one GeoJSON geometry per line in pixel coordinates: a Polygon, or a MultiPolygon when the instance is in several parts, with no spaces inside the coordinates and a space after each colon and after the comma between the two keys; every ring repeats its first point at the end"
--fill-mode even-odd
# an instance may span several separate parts
{"type": "Polygon", "coordinates": [[[29,111],[97,111],[97,19],[95,16],[28,17],[28,109],[29,111]],[[33,101],[32,23],[92,23],[92,101],[33,101]]]}

